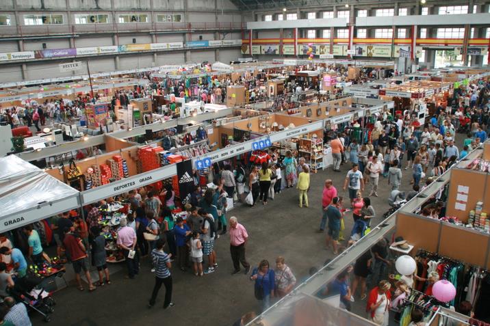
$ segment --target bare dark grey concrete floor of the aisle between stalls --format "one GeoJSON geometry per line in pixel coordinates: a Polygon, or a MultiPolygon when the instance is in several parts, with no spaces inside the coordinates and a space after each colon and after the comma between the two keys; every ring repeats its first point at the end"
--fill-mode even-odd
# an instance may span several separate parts
{"type": "MultiPolygon", "coordinates": [[[[298,207],[296,189],[287,189],[270,200],[267,206],[257,208],[236,207],[228,217],[235,215],[250,235],[247,247],[248,261],[257,266],[260,260],[268,259],[275,266],[276,256],[284,256],[296,278],[300,280],[308,274],[310,267],[320,267],[331,251],[325,249],[326,234],[317,232],[321,217],[321,195],[324,180],[333,179],[340,195],[344,195],[345,205],[348,193],[341,190],[350,165],[341,166],[341,173],[327,169],[311,176],[309,208],[298,207]]],[[[403,170],[401,190],[411,189],[411,171],[403,170]]],[[[381,221],[389,208],[387,198],[391,187],[387,179],[381,178],[379,197],[372,198],[376,209],[376,219],[381,221]]],[[[365,189],[369,193],[370,185],[365,189]]],[[[346,215],[346,237],[352,229],[352,214],[346,215]]],[[[215,245],[218,256],[218,270],[204,277],[194,277],[191,272],[183,273],[172,267],[174,280],[173,302],[175,307],[163,310],[164,289],[159,293],[157,304],[152,310],[146,307],[153,288],[154,275],[149,262],[142,261],[142,269],[136,280],[126,280],[123,269],[112,275],[112,285],[98,288],[94,293],[81,293],[73,284],[55,293],[57,300],[51,325],[95,326],[95,325],[152,325],[172,323],[180,325],[231,325],[242,314],[250,310],[259,312],[260,305],[253,295],[253,282],[243,273],[230,275],[233,270],[229,254],[229,237],[222,236],[215,245]]],[[[70,265],[67,267],[71,269],[70,265]]],[[[360,303],[359,303],[360,304],[360,303]]],[[[356,305],[357,306],[357,305],[356,305]]],[[[358,309],[355,309],[358,310],[358,309]]],[[[361,311],[359,311],[361,314],[361,311]]],[[[362,315],[364,315],[362,313],[362,315]]],[[[42,318],[32,315],[34,325],[42,323],[42,318]]]]}

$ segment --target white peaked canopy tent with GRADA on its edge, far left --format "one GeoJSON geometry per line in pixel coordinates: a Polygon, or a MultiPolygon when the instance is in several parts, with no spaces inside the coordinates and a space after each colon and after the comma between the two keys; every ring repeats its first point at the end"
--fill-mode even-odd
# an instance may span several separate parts
{"type": "Polygon", "coordinates": [[[0,158],[0,232],[79,206],[79,191],[15,155],[0,158]]]}

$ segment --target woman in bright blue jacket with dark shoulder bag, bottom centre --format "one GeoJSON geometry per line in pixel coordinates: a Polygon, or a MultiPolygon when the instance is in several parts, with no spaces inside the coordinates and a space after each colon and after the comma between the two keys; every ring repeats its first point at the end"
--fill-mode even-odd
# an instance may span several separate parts
{"type": "Polygon", "coordinates": [[[270,297],[274,297],[275,273],[269,268],[268,260],[261,260],[253,269],[250,281],[255,281],[255,299],[262,301],[262,312],[270,307],[270,297]]]}

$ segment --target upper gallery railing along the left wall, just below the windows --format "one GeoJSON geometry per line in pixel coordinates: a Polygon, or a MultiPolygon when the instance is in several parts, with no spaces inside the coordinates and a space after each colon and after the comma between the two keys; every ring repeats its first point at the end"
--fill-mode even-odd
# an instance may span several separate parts
{"type": "Polygon", "coordinates": [[[120,32],[159,32],[191,30],[229,30],[244,29],[246,23],[240,22],[196,22],[196,23],[109,23],[80,25],[36,25],[0,26],[0,37],[12,36],[54,36],[66,33],[120,33],[120,32]]]}

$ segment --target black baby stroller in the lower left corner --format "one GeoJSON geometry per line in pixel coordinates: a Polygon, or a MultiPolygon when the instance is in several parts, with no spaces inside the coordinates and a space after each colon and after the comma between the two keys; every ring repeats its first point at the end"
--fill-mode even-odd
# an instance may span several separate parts
{"type": "Polygon", "coordinates": [[[55,310],[55,299],[52,294],[44,290],[40,277],[27,275],[15,282],[15,286],[10,290],[10,295],[17,302],[22,302],[27,307],[27,310],[34,310],[44,317],[44,321],[49,323],[51,316],[55,310]]]}

